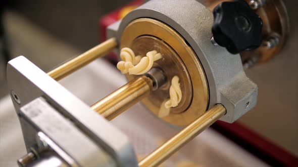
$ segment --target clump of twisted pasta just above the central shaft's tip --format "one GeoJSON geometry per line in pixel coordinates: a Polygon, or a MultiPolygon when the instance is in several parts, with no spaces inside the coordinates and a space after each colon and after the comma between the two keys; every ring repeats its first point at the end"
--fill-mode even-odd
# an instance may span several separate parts
{"type": "Polygon", "coordinates": [[[129,72],[129,74],[141,75],[150,70],[154,61],[162,58],[162,55],[156,50],[153,50],[148,52],[145,57],[141,58],[141,56],[135,56],[130,48],[123,48],[120,52],[120,58],[122,61],[117,63],[117,68],[122,73],[129,72]]]}

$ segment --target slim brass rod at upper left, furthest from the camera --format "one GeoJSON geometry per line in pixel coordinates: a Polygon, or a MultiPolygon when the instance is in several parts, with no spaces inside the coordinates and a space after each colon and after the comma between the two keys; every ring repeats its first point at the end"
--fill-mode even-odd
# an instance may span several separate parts
{"type": "Polygon", "coordinates": [[[47,74],[53,77],[55,80],[60,80],[63,77],[71,74],[77,69],[87,65],[96,58],[102,57],[105,54],[111,52],[117,47],[116,38],[108,39],[107,41],[91,48],[83,54],[67,61],[66,63],[58,66],[57,68],[49,71],[47,74]]]}

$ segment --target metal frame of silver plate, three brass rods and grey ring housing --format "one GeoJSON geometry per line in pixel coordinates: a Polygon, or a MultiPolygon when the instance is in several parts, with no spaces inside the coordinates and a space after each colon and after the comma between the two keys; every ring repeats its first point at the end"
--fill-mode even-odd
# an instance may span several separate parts
{"type": "Polygon", "coordinates": [[[23,56],[11,60],[7,80],[27,151],[34,152],[39,149],[36,145],[44,142],[71,166],[156,166],[216,120],[233,122],[238,119],[256,105],[258,88],[246,77],[239,55],[231,55],[211,43],[212,23],[212,13],[194,0],[151,1],[129,13],[120,25],[111,26],[108,32],[115,35],[114,38],[47,74],[23,56]],[[177,15],[177,11],[169,8],[182,9],[183,14],[177,15]],[[194,12],[196,16],[192,15],[194,12]],[[154,86],[159,84],[154,84],[153,76],[141,76],[129,82],[91,108],[56,80],[114,49],[125,27],[134,19],[146,17],[171,26],[195,51],[207,75],[210,104],[205,114],[137,163],[128,138],[92,109],[113,119],[157,90],[154,86]],[[117,99],[115,102],[120,106],[117,107],[113,99],[117,99]]]}

